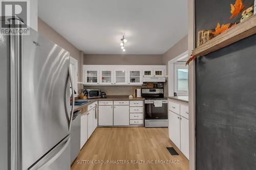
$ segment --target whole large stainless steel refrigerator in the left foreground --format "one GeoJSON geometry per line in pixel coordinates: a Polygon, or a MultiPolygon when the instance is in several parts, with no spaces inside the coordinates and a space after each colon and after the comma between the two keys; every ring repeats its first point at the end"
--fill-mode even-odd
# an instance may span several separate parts
{"type": "Polygon", "coordinates": [[[31,29],[0,55],[0,169],[70,169],[69,52],[31,29]]]}

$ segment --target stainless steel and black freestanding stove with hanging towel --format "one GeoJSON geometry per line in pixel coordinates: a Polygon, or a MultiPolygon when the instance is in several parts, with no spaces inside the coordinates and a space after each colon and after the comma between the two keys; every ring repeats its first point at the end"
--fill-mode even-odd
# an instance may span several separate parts
{"type": "Polygon", "coordinates": [[[145,127],[168,127],[168,100],[163,89],[141,89],[145,127]]]}

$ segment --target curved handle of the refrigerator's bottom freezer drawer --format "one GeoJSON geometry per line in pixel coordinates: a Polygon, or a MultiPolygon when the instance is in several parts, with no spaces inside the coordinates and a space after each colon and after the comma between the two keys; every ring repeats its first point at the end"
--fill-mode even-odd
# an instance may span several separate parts
{"type": "Polygon", "coordinates": [[[70,144],[70,136],[66,137],[66,139],[63,139],[58,144],[59,147],[57,147],[57,148],[53,149],[52,151],[50,151],[50,153],[47,154],[47,155],[49,155],[49,157],[42,158],[41,161],[37,162],[32,167],[29,167],[28,170],[40,170],[40,169],[42,170],[42,169],[46,169],[46,167],[51,165],[67,149],[69,144],[70,144]],[[55,151],[55,150],[58,150],[58,151],[55,151]],[[42,161],[44,161],[44,160],[45,160],[45,162],[43,163],[42,161]]]}

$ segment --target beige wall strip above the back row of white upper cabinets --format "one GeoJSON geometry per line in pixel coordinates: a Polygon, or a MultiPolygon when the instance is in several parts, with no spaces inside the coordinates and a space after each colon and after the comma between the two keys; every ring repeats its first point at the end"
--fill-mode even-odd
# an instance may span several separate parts
{"type": "Polygon", "coordinates": [[[84,55],[87,65],[163,65],[162,55],[84,55]]]}

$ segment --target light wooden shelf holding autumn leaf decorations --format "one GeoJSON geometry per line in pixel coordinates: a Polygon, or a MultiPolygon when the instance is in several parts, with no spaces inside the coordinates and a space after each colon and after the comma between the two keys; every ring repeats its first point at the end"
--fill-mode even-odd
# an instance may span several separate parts
{"type": "Polygon", "coordinates": [[[253,34],[256,34],[256,15],[200,45],[192,56],[205,56],[253,34]]]}

